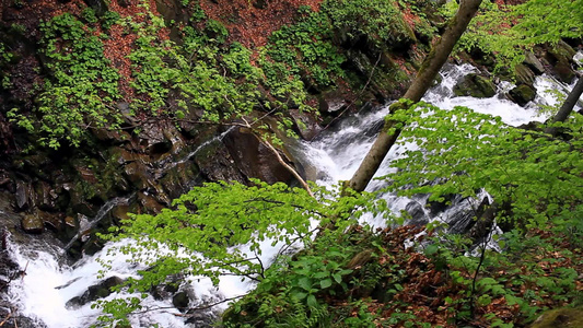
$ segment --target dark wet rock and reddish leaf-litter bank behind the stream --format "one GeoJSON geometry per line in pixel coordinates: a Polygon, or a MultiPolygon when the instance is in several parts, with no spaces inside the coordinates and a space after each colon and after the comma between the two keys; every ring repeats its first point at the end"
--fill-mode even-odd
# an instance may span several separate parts
{"type": "MultiPolygon", "coordinates": [[[[67,257],[62,257],[60,261],[73,265],[101,250],[104,245],[95,237],[95,233],[118,224],[119,220],[127,218],[127,212],[156,213],[162,208],[170,207],[172,199],[203,181],[236,180],[247,184],[249,178],[260,178],[268,183],[293,184],[293,177],[289,172],[279,165],[270,151],[253,134],[247,133],[245,129],[231,128],[230,121],[224,121],[224,125],[198,125],[188,121],[189,119],[197,121],[202,117],[201,109],[193,107],[186,112],[186,120],[177,120],[163,115],[149,117],[143,113],[131,115],[132,108],[127,98],[124,98],[113,104],[123,114],[121,129],[109,130],[88,126],[90,138],[78,148],[67,144],[58,150],[37,148],[35,139],[38,134],[30,134],[15,121],[11,122],[8,113],[14,106],[21,107],[24,113],[36,113],[34,112],[37,106],[36,102],[40,102],[43,92],[35,85],[43,85],[45,79],[55,78],[48,73],[51,67],[50,60],[46,58],[46,49],[42,48],[43,36],[39,20],[48,21],[50,16],[61,13],[62,10],[56,1],[19,3],[16,1],[2,4],[2,35],[7,36],[2,37],[2,40],[7,45],[5,49],[10,49],[4,54],[11,54],[11,58],[0,66],[3,69],[2,79],[8,78],[10,82],[9,86],[2,85],[0,110],[0,136],[2,137],[0,151],[4,155],[0,161],[0,188],[2,190],[0,198],[5,204],[2,208],[1,218],[2,224],[12,236],[10,241],[13,243],[27,245],[33,239],[46,239],[48,245],[51,245],[48,248],[57,247],[67,251],[67,257]],[[18,37],[19,35],[34,36],[34,38],[28,40],[18,37]],[[32,149],[31,144],[33,144],[32,149]]],[[[66,8],[78,17],[78,21],[97,28],[96,25],[92,25],[95,23],[91,23],[93,19],[85,10],[93,9],[100,20],[105,23],[107,10],[102,8],[104,3],[68,1],[66,8]]],[[[319,4],[316,1],[306,3],[313,8],[319,4]]],[[[244,4],[248,2],[236,2],[236,5],[244,8],[245,11],[261,13],[260,16],[264,20],[269,20],[272,11],[281,11],[285,16],[283,20],[285,22],[301,21],[306,16],[313,17],[305,12],[296,16],[296,5],[287,1],[263,4],[258,2],[254,9],[244,4]]],[[[225,7],[224,3],[201,1],[199,7],[215,22],[223,21],[229,31],[229,37],[249,44],[250,42],[242,31],[237,33],[234,30],[236,23],[241,23],[237,20],[245,19],[237,19],[236,11],[233,12],[231,8],[222,8],[228,13],[221,14],[221,5],[225,7]]],[[[190,17],[198,10],[195,2],[190,2],[186,8],[176,1],[150,2],[150,9],[154,8],[153,14],[162,15],[167,22],[186,21],[190,27],[203,31],[206,37],[210,39],[220,38],[224,32],[219,25],[211,25],[212,28],[205,25],[208,20],[206,23],[190,23],[190,17]]],[[[119,15],[130,15],[132,12],[135,14],[139,10],[138,3],[132,1],[113,1],[109,7],[109,12],[115,11],[119,15]]],[[[352,19],[354,17],[350,16],[346,20],[352,19]]],[[[269,21],[261,21],[261,23],[267,24],[269,21]]],[[[280,24],[273,23],[271,27],[276,25],[279,27],[280,24]]],[[[121,24],[118,25],[119,28],[124,27],[121,24]]],[[[331,30],[331,34],[323,36],[327,42],[326,45],[333,44],[334,51],[339,51],[343,56],[343,59],[340,58],[342,61],[339,67],[343,70],[346,78],[335,77],[337,80],[326,85],[326,81],[318,80],[314,74],[317,71],[299,68],[298,72],[298,81],[302,82],[301,85],[307,94],[304,101],[317,108],[322,118],[303,112],[299,104],[289,101],[288,97],[278,99],[272,94],[273,90],[269,90],[273,86],[269,85],[257,86],[260,93],[257,104],[264,105],[267,104],[266,99],[273,101],[273,98],[279,102],[285,101],[289,114],[285,113],[282,116],[293,121],[292,129],[296,133],[305,140],[311,140],[319,131],[325,130],[330,121],[338,122],[339,120],[335,118],[345,112],[358,112],[358,108],[361,108],[360,105],[368,102],[372,104],[368,107],[375,108],[378,104],[398,98],[415,74],[416,67],[430,44],[428,35],[411,30],[409,25],[399,26],[403,31],[399,30],[394,35],[389,35],[387,39],[381,40],[376,35],[364,34],[364,31],[353,34],[353,31],[350,31],[350,24],[337,24],[334,26],[336,30],[331,30]],[[300,120],[307,128],[299,125],[300,120]]],[[[302,26],[302,28],[308,27],[302,26]]],[[[175,37],[178,31],[178,27],[168,27],[168,38],[175,37]]],[[[298,31],[303,30],[294,30],[292,34],[298,31]]],[[[259,32],[266,33],[263,30],[259,32]]],[[[117,36],[115,33],[117,32],[113,30],[109,37],[117,36]]],[[[131,35],[132,33],[128,33],[125,40],[131,42],[133,38],[131,35]]],[[[253,37],[249,38],[253,40],[253,37]]],[[[116,40],[120,42],[120,39],[116,40]]],[[[119,45],[127,44],[119,43],[119,45]]],[[[253,45],[263,44],[257,39],[253,40],[253,45]]],[[[563,68],[564,74],[561,75],[569,80],[569,70],[572,70],[572,49],[569,50],[567,47],[570,46],[564,45],[561,44],[562,50],[556,55],[548,55],[543,48],[537,49],[538,59],[529,57],[529,63],[525,62],[526,69],[521,71],[524,78],[521,78],[522,84],[516,87],[524,89],[524,92],[521,91],[522,89],[512,89],[515,91],[511,90],[508,94],[517,103],[525,105],[534,96],[532,89],[536,80],[535,75],[544,72],[558,74],[558,70],[563,68]]],[[[105,46],[110,46],[110,44],[105,46]]],[[[230,47],[230,45],[221,47],[230,47]]],[[[112,52],[121,50],[106,49],[112,52]]],[[[273,50],[273,56],[276,52],[273,50]]],[[[120,71],[129,70],[132,63],[124,62],[125,55],[128,54],[116,54],[118,57],[112,60],[113,66],[120,71]]],[[[221,56],[224,55],[221,52],[221,56]]],[[[473,59],[467,58],[467,60],[473,59]]],[[[479,67],[476,77],[482,75],[487,77],[488,73],[483,67],[479,67]]],[[[473,78],[469,82],[479,84],[479,89],[485,89],[483,79],[473,78]],[[476,81],[480,82],[476,83],[476,81]]],[[[126,87],[125,83],[129,82],[121,79],[119,89],[126,87]]],[[[464,87],[466,86],[465,84],[464,87]]],[[[491,85],[486,86],[486,89],[491,87],[491,85]]],[[[125,92],[125,97],[131,94],[129,91],[125,92]]],[[[460,89],[459,94],[474,94],[474,92],[460,89]]],[[[168,103],[173,101],[175,98],[168,98],[168,103]]],[[[254,112],[249,116],[261,117],[268,112],[260,106],[254,106],[254,112]]],[[[281,119],[281,116],[278,119],[281,119]]],[[[272,121],[268,122],[272,124],[272,121]]],[[[290,150],[288,153],[291,154],[293,151],[290,150]]],[[[299,167],[301,161],[294,157],[290,155],[289,160],[296,163],[299,167]]],[[[311,174],[315,171],[314,167],[310,164],[303,166],[307,177],[318,178],[329,174],[324,171],[311,174]]],[[[420,215],[419,220],[423,221],[424,216],[420,215]]],[[[37,247],[36,245],[47,247],[42,243],[30,244],[34,247],[37,247]]],[[[13,277],[23,270],[25,268],[22,263],[21,268],[11,266],[12,273],[5,276],[13,277]]],[[[95,274],[95,271],[91,274],[95,274]]],[[[178,293],[173,292],[173,296],[176,294],[178,293]]]]}

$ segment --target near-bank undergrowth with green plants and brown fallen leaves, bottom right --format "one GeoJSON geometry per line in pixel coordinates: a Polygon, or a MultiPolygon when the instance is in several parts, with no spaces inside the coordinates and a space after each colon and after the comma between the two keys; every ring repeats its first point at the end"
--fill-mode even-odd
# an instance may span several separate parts
{"type": "Polygon", "coordinates": [[[505,251],[487,250],[478,276],[470,242],[422,231],[353,227],[318,238],[231,306],[222,326],[524,327],[583,302],[583,251],[562,229],[505,234],[505,251]]]}

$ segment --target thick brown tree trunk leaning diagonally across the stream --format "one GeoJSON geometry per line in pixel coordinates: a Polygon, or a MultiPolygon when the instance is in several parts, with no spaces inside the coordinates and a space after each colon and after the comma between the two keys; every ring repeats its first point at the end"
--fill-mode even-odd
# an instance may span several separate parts
{"type": "MultiPolygon", "coordinates": [[[[450,57],[455,44],[466,31],[467,25],[478,11],[482,0],[463,0],[455,16],[447,24],[447,28],[441,36],[440,40],[431,49],[428,57],[423,60],[417,77],[411,86],[403,96],[412,103],[418,103],[431,86],[442,66],[450,57]]],[[[401,106],[392,106],[390,113],[397,109],[404,109],[401,106]]],[[[360,164],[359,168],[348,183],[352,190],[361,192],[372,179],[378,166],[385,159],[386,154],[400,134],[400,129],[389,134],[388,131],[396,126],[396,121],[386,120],[385,125],[376,138],[373,147],[360,164]]]]}

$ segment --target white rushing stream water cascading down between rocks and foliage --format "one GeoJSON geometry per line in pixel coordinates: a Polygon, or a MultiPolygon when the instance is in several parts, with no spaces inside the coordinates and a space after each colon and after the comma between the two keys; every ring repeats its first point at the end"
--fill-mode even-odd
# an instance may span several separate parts
{"type": "MultiPolygon", "coordinates": [[[[430,102],[442,108],[452,108],[453,106],[467,106],[480,113],[497,115],[509,125],[518,126],[532,120],[543,121],[546,116],[540,115],[535,107],[537,105],[529,104],[527,107],[521,107],[504,98],[503,94],[512,87],[510,83],[502,82],[499,84],[499,92],[495,96],[490,98],[473,98],[473,97],[453,97],[452,89],[462,77],[474,72],[476,69],[469,65],[450,66],[442,75],[443,81],[440,85],[433,87],[425,96],[424,101],[430,102]]],[[[558,83],[548,77],[538,77],[535,84],[538,90],[538,97],[535,99],[537,104],[553,105],[556,101],[553,97],[545,93],[545,90],[559,90],[567,92],[572,85],[564,85],[558,83]]],[[[581,108],[581,104],[579,104],[581,108]]],[[[579,109],[576,108],[576,109],[579,109]]],[[[343,119],[335,128],[324,131],[316,141],[311,143],[303,143],[296,150],[298,153],[303,154],[301,161],[306,165],[313,167],[314,176],[320,185],[333,185],[338,180],[346,180],[351,177],[372,142],[375,139],[376,131],[383,121],[383,117],[387,113],[387,108],[380,108],[377,110],[369,110],[366,113],[359,113],[350,118],[343,119]]],[[[226,133],[226,132],[225,132],[226,133]]],[[[224,133],[218,137],[224,137],[224,133]]],[[[214,141],[214,140],[213,140],[214,141]]],[[[197,150],[198,151],[198,150],[197,150]]],[[[385,159],[382,169],[377,175],[386,175],[389,172],[387,161],[392,161],[404,152],[401,148],[392,149],[390,153],[385,159]]],[[[166,164],[166,165],[176,165],[166,164]]],[[[369,190],[380,188],[380,181],[373,181],[369,186],[369,190]]],[[[427,220],[444,220],[451,222],[446,216],[455,216],[453,213],[455,209],[447,210],[441,213],[440,218],[431,218],[424,207],[424,199],[406,199],[394,195],[384,196],[394,211],[412,210],[422,211],[421,216],[427,220]]],[[[126,198],[116,198],[107,202],[100,213],[104,214],[109,209],[120,202],[128,201],[126,198]]],[[[95,224],[101,218],[93,218],[88,220],[88,227],[95,224]]],[[[381,219],[369,218],[370,223],[383,225],[381,219]]],[[[75,238],[82,237],[81,235],[75,238]]],[[[71,241],[71,243],[74,242],[71,241]]],[[[70,243],[70,244],[71,244],[70,243]]],[[[127,243],[127,242],[126,242],[127,243]]],[[[277,248],[268,247],[266,242],[266,249],[263,255],[265,261],[278,251],[277,248]]],[[[67,249],[68,245],[65,245],[67,249]]],[[[69,300],[82,295],[89,286],[96,284],[103,278],[98,278],[100,270],[103,267],[95,260],[96,257],[110,258],[112,270],[106,272],[107,277],[118,277],[121,279],[135,276],[137,270],[144,269],[130,265],[129,259],[124,255],[116,255],[115,258],[107,256],[107,249],[114,245],[106,245],[105,249],[95,256],[86,256],[78,261],[74,266],[62,263],[60,259],[62,256],[62,248],[49,247],[48,245],[40,248],[36,245],[34,248],[27,245],[11,245],[11,253],[15,260],[22,268],[26,268],[26,276],[18,281],[11,283],[9,296],[12,304],[19,305],[19,311],[33,318],[37,318],[49,328],[79,328],[89,327],[95,323],[96,316],[100,314],[97,309],[91,308],[91,303],[81,306],[67,306],[69,300]],[[33,250],[34,249],[34,250],[33,250]],[[45,250],[38,250],[45,249],[45,250]]],[[[248,282],[241,282],[238,278],[229,277],[221,280],[219,289],[212,286],[210,281],[200,280],[195,282],[188,289],[191,296],[198,300],[200,304],[209,304],[220,301],[224,297],[233,297],[246,293],[253,284],[248,282]]],[[[108,296],[115,297],[115,294],[108,296]]],[[[132,325],[135,327],[148,327],[153,323],[160,323],[161,327],[196,327],[196,324],[185,324],[184,317],[176,316],[179,312],[173,308],[172,300],[158,301],[153,296],[148,296],[144,300],[144,305],[149,308],[164,308],[161,311],[144,312],[138,316],[132,317],[132,325]]],[[[193,305],[193,304],[190,304],[193,305]]],[[[224,308],[224,304],[222,305],[224,308]]],[[[42,327],[42,324],[38,325],[42,327]]]]}

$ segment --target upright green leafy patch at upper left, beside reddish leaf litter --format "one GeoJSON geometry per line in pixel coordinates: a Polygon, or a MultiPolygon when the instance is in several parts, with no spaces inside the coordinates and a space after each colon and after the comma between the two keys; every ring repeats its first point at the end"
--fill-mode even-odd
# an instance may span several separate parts
{"type": "Polygon", "coordinates": [[[50,78],[35,113],[14,108],[8,113],[11,120],[37,134],[40,145],[55,149],[62,140],[78,147],[89,127],[118,127],[120,115],[110,104],[119,98],[119,74],[103,55],[100,39],[70,13],[43,23],[40,32],[39,52],[48,59],[50,78]]]}

